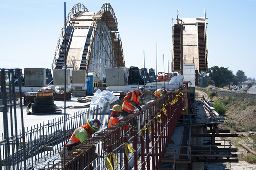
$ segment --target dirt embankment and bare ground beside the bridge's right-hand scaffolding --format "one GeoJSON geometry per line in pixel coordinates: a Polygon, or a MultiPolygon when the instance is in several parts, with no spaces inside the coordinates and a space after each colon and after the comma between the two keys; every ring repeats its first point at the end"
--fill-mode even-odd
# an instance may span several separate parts
{"type": "MultiPolygon", "coordinates": [[[[242,148],[238,142],[241,142],[250,149],[256,151],[255,141],[248,133],[250,129],[256,129],[256,95],[222,89],[219,90],[218,88],[212,88],[212,90],[205,88],[205,90],[217,92],[217,96],[210,99],[213,101],[212,103],[214,103],[214,101],[217,102],[221,100],[228,100],[230,97],[232,98],[232,102],[225,106],[225,124],[220,124],[219,128],[230,129],[231,133],[238,133],[238,137],[226,137],[225,140],[230,140],[234,145],[233,147],[238,148],[237,154],[239,161],[243,163],[241,164],[242,167],[247,168],[247,170],[255,170],[255,166],[251,167],[252,164],[243,161],[247,156],[251,155],[251,153],[242,148]],[[238,131],[235,131],[235,129],[238,129],[238,131]]],[[[202,91],[199,91],[197,94],[207,95],[202,91]]],[[[216,138],[216,140],[219,139],[223,140],[224,138],[216,138]]]]}

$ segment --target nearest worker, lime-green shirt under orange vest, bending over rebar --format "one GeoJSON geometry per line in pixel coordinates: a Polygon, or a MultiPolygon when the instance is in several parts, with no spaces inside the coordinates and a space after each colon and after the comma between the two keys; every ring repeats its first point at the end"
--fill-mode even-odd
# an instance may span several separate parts
{"type": "Polygon", "coordinates": [[[71,151],[74,146],[84,144],[87,139],[100,130],[101,122],[98,119],[88,119],[85,125],[74,130],[66,143],[66,149],[71,151]]]}

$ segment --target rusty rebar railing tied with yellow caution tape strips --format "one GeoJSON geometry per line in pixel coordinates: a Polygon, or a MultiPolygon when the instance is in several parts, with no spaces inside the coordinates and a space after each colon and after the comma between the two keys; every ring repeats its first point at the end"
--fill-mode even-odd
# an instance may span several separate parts
{"type": "Polygon", "coordinates": [[[39,170],[158,168],[181,115],[180,93],[168,93],[146,104],[142,111],[120,119],[116,125],[96,133],[86,144],[66,151],[64,158],[49,161],[39,170]],[[139,153],[140,161],[137,159],[139,153]]]}

